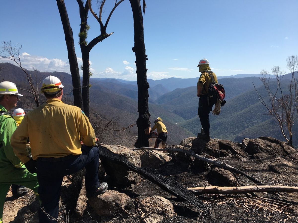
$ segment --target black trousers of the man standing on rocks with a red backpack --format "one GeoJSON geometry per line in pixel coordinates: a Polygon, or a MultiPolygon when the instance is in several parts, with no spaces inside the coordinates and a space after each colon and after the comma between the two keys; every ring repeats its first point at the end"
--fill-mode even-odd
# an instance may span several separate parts
{"type": "Polygon", "coordinates": [[[199,98],[198,116],[201,121],[202,128],[206,135],[210,135],[209,113],[212,110],[214,103],[209,101],[207,95],[201,95],[199,98]]]}

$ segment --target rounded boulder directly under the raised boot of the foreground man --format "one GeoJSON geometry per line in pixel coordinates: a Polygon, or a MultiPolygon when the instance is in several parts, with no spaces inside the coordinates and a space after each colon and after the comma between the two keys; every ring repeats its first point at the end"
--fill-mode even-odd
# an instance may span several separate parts
{"type": "Polygon", "coordinates": [[[104,194],[88,199],[90,206],[99,216],[119,216],[125,214],[125,206],[130,201],[126,194],[113,190],[107,190],[104,194]]]}

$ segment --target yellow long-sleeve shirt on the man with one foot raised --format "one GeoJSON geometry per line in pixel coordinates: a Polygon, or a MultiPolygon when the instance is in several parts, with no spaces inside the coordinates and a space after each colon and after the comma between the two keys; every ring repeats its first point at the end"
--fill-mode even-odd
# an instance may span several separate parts
{"type": "Polygon", "coordinates": [[[26,150],[30,139],[32,158],[81,154],[81,143],[95,145],[95,133],[80,108],[49,99],[30,111],[11,137],[13,151],[23,163],[30,160],[26,150]]]}

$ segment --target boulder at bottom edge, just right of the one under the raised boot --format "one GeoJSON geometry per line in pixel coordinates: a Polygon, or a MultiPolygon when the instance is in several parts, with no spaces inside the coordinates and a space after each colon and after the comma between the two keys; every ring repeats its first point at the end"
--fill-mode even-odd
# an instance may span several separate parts
{"type": "Polygon", "coordinates": [[[171,217],[175,214],[172,203],[160,196],[140,196],[135,199],[136,214],[151,213],[142,222],[157,223],[161,222],[164,217],[171,217]]]}

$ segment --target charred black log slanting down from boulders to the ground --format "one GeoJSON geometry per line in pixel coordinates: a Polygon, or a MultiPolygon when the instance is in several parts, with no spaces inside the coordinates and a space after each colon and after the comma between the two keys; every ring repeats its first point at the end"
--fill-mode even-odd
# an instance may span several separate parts
{"type": "Polygon", "coordinates": [[[181,198],[194,206],[201,208],[203,207],[203,202],[195,197],[190,191],[188,191],[185,187],[179,185],[176,182],[171,182],[169,179],[163,177],[159,174],[159,172],[148,168],[139,168],[129,162],[126,158],[117,155],[105,147],[99,146],[99,156],[101,159],[106,159],[108,161],[114,162],[116,164],[120,164],[122,166],[127,167],[128,169],[142,175],[147,180],[150,180],[152,183],[155,183],[161,189],[167,191],[168,193],[174,195],[175,197],[181,198]]]}

